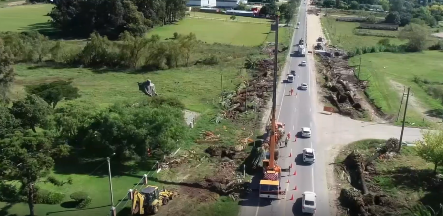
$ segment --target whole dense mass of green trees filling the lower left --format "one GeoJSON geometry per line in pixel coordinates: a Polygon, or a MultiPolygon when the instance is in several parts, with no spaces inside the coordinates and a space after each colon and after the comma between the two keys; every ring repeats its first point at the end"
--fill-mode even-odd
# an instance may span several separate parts
{"type": "MultiPolygon", "coordinates": [[[[41,93],[50,88],[31,89],[41,93]]],[[[148,148],[171,153],[188,134],[183,108],[176,99],[155,97],[106,109],[74,101],[53,109],[36,95],[13,102],[11,108],[0,106],[0,198],[26,201],[34,216],[35,202],[54,204],[63,197],[57,193],[59,198],[41,198],[39,183],[72,184],[49,175],[59,157],[73,152],[94,158],[116,153],[113,161],[123,164],[145,160],[148,148]],[[10,181],[21,183],[19,189],[10,181]]]]}

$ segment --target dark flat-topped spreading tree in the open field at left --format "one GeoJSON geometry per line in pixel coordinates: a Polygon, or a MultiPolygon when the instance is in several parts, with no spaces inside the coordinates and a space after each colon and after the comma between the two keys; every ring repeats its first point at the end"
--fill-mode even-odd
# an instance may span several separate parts
{"type": "Polygon", "coordinates": [[[45,100],[52,108],[57,106],[61,100],[73,100],[80,97],[79,89],[72,86],[72,81],[53,81],[38,85],[26,86],[28,94],[34,94],[45,100]]]}

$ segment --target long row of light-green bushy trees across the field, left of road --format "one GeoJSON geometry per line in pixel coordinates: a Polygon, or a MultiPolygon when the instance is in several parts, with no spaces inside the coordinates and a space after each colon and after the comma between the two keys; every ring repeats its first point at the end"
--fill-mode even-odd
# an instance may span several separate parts
{"type": "Polygon", "coordinates": [[[86,67],[138,68],[147,66],[167,69],[188,66],[198,41],[195,34],[175,33],[173,40],[161,42],[158,35],[151,38],[134,36],[125,31],[120,41],[110,41],[98,33],[90,35],[84,46],[73,47],[63,41],[50,41],[38,32],[0,33],[3,52],[14,62],[42,62],[53,60],[86,67]]]}

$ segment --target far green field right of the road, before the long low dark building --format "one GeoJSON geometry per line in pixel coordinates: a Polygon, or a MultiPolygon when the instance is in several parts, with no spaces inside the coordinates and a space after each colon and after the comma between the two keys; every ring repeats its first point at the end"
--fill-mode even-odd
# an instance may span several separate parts
{"type": "MultiPolygon", "coordinates": [[[[356,47],[373,46],[377,44],[381,39],[385,37],[376,36],[360,36],[355,35],[352,30],[360,26],[358,22],[340,22],[336,21],[337,17],[322,17],[321,25],[326,32],[325,37],[329,40],[328,43],[336,45],[346,50],[352,50],[356,47]]],[[[367,30],[374,34],[388,34],[398,35],[397,31],[384,31],[384,30],[367,30]]],[[[402,44],[404,41],[400,41],[397,38],[389,38],[391,44],[402,44]]]]}

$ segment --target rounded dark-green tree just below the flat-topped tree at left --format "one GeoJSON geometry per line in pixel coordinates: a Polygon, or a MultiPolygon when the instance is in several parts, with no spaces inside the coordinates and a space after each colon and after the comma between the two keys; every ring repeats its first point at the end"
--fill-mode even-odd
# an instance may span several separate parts
{"type": "Polygon", "coordinates": [[[40,97],[28,95],[25,99],[12,104],[11,113],[20,120],[22,128],[36,132],[36,127],[47,123],[46,120],[52,113],[52,108],[40,97]]]}

